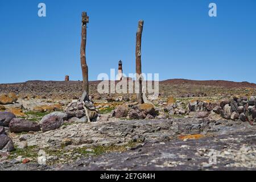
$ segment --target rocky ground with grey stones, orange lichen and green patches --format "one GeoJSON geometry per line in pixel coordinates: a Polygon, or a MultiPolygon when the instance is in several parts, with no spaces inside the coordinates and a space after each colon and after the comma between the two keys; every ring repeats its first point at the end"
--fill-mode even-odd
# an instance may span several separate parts
{"type": "Polygon", "coordinates": [[[80,81],[0,84],[0,170],[256,169],[255,84],[161,81],[139,105],[98,83],[85,104],[80,81]]]}

